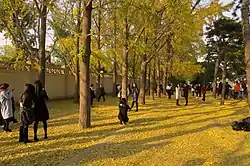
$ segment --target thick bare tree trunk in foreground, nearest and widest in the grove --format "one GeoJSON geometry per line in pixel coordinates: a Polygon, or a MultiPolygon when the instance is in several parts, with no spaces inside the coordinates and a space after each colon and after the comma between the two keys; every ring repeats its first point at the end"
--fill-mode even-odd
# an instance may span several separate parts
{"type": "Polygon", "coordinates": [[[79,126],[81,128],[89,128],[91,126],[90,115],[90,72],[89,63],[91,55],[91,13],[92,1],[84,0],[83,7],[83,25],[82,36],[84,44],[84,55],[80,61],[80,108],[79,108],[79,126]]]}

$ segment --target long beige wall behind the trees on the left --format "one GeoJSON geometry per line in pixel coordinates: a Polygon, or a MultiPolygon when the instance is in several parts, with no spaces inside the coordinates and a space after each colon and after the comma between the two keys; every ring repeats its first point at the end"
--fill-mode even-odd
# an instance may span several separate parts
{"type": "MultiPolygon", "coordinates": [[[[72,98],[75,93],[74,76],[66,69],[47,68],[46,70],[46,91],[50,99],[66,99],[72,98]]],[[[18,99],[23,92],[26,83],[33,83],[38,78],[37,71],[14,70],[0,68],[0,83],[8,83],[10,88],[14,88],[14,97],[18,99]]],[[[95,85],[96,76],[90,76],[90,82],[95,85]]],[[[133,82],[128,80],[129,84],[133,82]]],[[[136,80],[137,84],[139,83],[136,80]]],[[[106,93],[113,91],[112,75],[105,75],[101,78],[106,93]]],[[[118,76],[117,84],[121,84],[121,77],[118,76]]],[[[139,85],[139,84],[138,84],[139,85]]]]}

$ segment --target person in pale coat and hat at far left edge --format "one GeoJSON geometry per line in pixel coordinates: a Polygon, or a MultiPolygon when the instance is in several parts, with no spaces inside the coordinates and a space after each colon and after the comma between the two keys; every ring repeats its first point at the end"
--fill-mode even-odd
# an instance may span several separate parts
{"type": "Polygon", "coordinates": [[[9,129],[9,123],[13,118],[13,109],[12,109],[12,93],[8,90],[9,84],[2,84],[0,86],[0,103],[1,103],[1,114],[4,120],[3,130],[6,132],[12,132],[9,129]]]}

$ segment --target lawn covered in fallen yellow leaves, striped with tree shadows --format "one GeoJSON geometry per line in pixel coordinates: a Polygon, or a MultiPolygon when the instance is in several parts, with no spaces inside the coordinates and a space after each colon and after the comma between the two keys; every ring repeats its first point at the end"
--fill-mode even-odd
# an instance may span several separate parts
{"type": "MultiPolygon", "coordinates": [[[[129,124],[117,120],[117,99],[96,104],[92,128],[78,128],[78,107],[72,101],[49,103],[49,139],[27,145],[14,132],[0,132],[0,165],[56,165],[79,152],[78,165],[249,165],[250,133],[235,132],[231,122],[248,115],[245,101],[190,97],[190,106],[176,107],[165,97],[147,100],[139,112],[129,113],[129,124]],[[102,143],[100,145],[100,143],[102,143]]],[[[184,105],[184,101],[181,101],[184,105]]],[[[30,127],[30,139],[33,129],[30,127]]]]}

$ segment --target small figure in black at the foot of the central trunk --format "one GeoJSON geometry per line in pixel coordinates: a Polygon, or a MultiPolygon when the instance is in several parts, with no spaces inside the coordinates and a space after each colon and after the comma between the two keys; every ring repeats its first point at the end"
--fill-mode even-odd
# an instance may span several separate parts
{"type": "Polygon", "coordinates": [[[125,98],[122,98],[119,104],[119,114],[118,114],[118,119],[120,120],[120,124],[128,122],[128,110],[130,110],[127,100],[125,98]]]}

